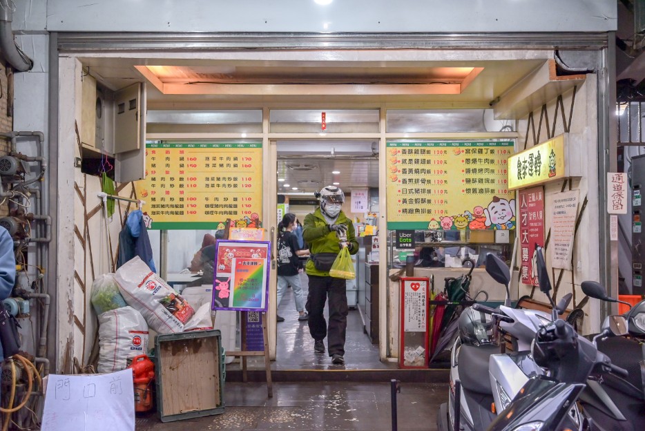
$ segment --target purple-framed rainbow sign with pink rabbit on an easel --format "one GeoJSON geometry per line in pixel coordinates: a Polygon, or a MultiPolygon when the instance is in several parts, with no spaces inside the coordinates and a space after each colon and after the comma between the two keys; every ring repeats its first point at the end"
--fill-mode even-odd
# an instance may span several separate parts
{"type": "Polygon", "coordinates": [[[244,240],[215,243],[212,309],[267,311],[270,244],[244,240]]]}

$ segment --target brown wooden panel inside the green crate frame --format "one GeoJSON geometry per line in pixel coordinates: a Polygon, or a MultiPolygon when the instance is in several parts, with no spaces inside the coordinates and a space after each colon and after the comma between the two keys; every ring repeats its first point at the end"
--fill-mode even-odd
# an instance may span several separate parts
{"type": "Polygon", "coordinates": [[[202,337],[160,343],[157,373],[164,416],[222,406],[218,340],[202,337]]]}

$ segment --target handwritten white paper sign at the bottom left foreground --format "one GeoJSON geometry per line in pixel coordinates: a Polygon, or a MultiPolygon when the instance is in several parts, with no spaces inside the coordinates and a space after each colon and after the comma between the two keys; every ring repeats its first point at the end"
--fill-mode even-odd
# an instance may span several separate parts
{"type": "Polygon", "coordinates": [[[92,376],[50,374],[41,431],[134,431],[132,370],[92,376]]]}

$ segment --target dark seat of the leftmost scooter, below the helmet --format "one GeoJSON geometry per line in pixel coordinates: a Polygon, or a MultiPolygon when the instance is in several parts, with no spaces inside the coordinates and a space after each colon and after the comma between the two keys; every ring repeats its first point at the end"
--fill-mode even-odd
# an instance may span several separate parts
{"type": "Polygon", "coordinates": [[[459,379],[466,390],[492,395],[488,376],[488,358],[499,353],[497,345],[462,345],[459,349],[459,379]]]}

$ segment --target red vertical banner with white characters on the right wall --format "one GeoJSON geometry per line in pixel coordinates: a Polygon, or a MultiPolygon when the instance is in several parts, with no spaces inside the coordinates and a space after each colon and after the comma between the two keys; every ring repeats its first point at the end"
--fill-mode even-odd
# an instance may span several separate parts
{"type": "Polygon", "coordinates": [[[544,247],[544,188],[532,187],[519,191],[519,233],[521,280],[537,286],[535,245],[544,247]]]}

